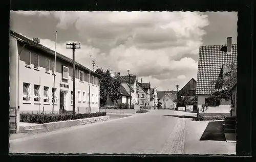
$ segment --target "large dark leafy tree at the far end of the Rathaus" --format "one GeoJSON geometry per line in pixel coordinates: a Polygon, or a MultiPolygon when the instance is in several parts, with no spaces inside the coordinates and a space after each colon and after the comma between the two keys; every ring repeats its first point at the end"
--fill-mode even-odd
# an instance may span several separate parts
{"type": "Polygon", "coordinates": [[[104,106],[108,97],[112,101],[120,98],[120,92],[118,88],[121,83],[119,80],[115,80],[111,77],[110,69],[104,71],[103,68],[97,68],[96,73],[100,74],[103,78],[100,82],[100,106],[104,106]]]}

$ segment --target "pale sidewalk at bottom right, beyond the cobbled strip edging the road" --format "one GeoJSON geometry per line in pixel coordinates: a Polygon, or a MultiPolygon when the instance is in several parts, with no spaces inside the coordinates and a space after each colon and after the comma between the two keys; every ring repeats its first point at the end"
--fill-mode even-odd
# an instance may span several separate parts
{"type": "MultiPolygon", "coordinates": [[[[192,121],[192,119],[185,119],[185,121],[184,154],[236,154],[236,143],[228,143],[220,137],[214,141],[210,139],[210,136],[212,137],[214,134],[210,133],[202,136],[209,122],[212,121],[192,121]],[[201,138],[204,138],[204,141],[201,138]]],[[[217,135],[221,136],[222,134],[217,135]]]]}

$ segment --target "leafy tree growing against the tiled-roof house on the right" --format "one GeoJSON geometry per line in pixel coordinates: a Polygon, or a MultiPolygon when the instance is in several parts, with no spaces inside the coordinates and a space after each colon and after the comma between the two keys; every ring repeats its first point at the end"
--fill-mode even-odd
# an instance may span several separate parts
{"type": "Polygon", "coordinates": [[[202,104],[203,112],[206,111],[211,104],[219,105],[222,99],[225,101],[231,99],[232,94],[228,90],[237,81],[236,66],[237,64],[233,62],[227,67],[228,71],[226,73],[221,73],[216,80],[211,81],[210,85],[212,88],[210,95],[205,98],[205,103],[202,104]]]}

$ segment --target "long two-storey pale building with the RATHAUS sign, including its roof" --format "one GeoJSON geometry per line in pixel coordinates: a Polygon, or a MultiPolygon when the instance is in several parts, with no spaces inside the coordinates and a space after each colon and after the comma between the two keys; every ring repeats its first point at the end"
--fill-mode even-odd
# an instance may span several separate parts
{"type": "Polygon", "coordinates": [[[73,101],[72,59],[56,52],[55,65],[54,86],[54,51],[39,39],[33,41],[11,31],[10,106],[19,108],[19,113],[59,113],[62,109],[72,111],[75,103],[79,113],[98,112],[101,76],[91,71],[89,84],[89,69],[76,63],[73,101]]]}

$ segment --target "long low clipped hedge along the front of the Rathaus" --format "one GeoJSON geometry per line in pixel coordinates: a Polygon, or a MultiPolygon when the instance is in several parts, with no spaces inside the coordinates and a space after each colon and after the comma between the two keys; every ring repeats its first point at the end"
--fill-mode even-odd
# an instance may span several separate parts
{"type": "Polygon", "coordinates": [[[50,123],[57,121],[66,121],[66,120],[75,120],[75,119],[84,119],[84,118],[93,118],[99,116],[105,116],[106,112],[100,113],[91,113],[91,114],[20,114],[20,122],[27,123],[50,123]]]}

